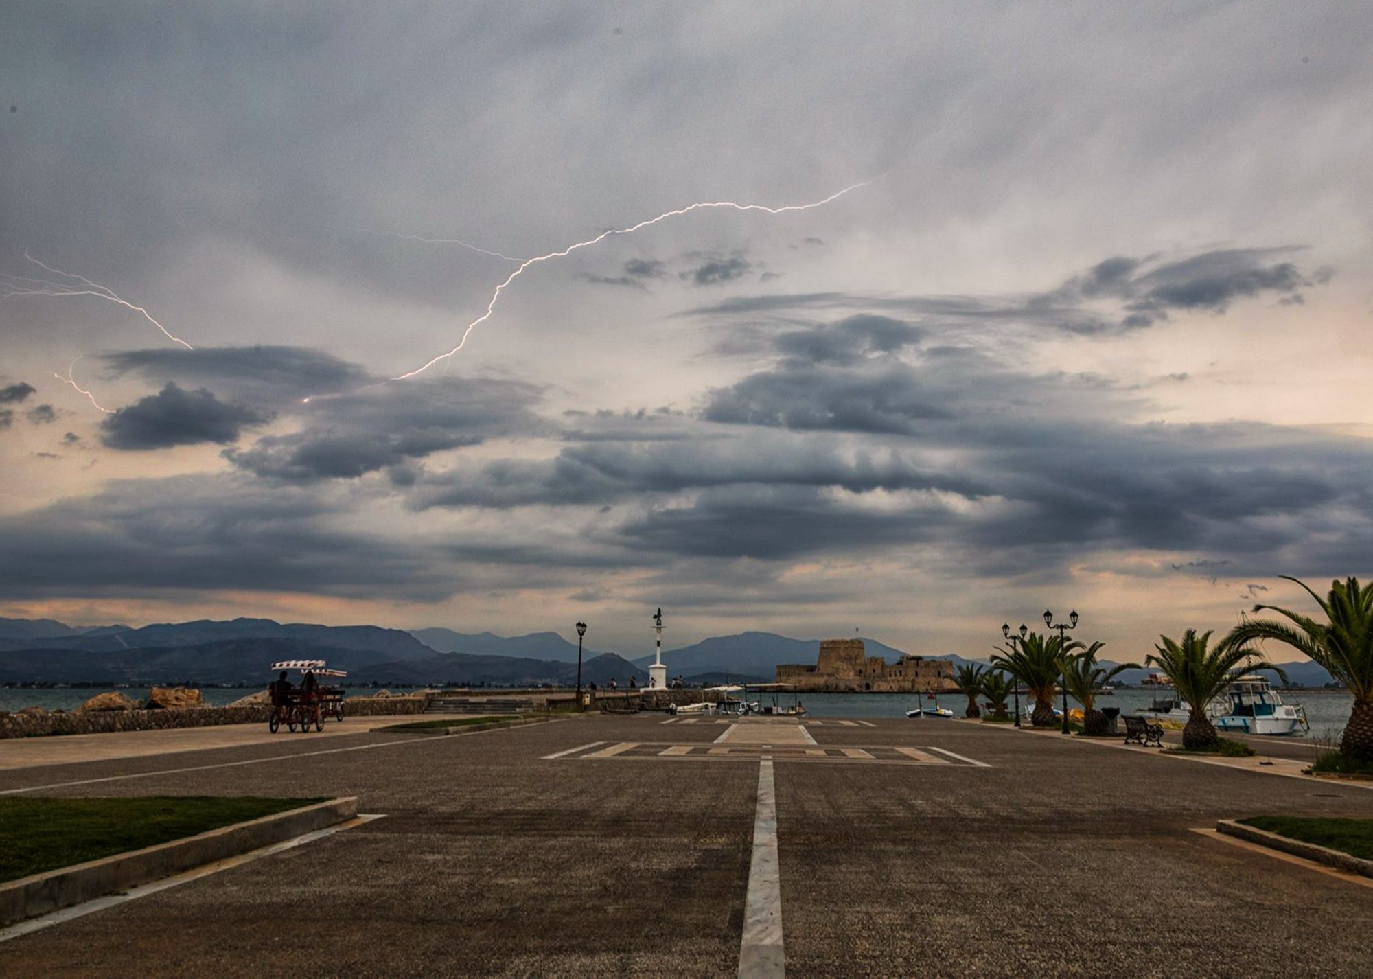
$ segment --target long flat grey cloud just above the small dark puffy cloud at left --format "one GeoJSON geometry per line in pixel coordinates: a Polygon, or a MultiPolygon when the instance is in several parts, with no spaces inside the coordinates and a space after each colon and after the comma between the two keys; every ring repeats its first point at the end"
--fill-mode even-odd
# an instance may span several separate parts
{"type": "Polygon", "coordinates": [[[309,347],[243,346],[122,350],[103,357],[107,373],[203,384],[255,405],[349,391],[375,380],[357,364],[309,347]]]}

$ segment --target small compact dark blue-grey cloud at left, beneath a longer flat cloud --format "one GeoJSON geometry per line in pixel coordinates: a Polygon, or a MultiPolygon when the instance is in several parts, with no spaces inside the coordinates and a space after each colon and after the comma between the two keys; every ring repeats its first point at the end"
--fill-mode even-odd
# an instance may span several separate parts
{"type": "Polygon", "coordinates": [[[227,445],[249,427],[269,420],[247,405],[220,401],[206,389],[187,391],[168,384],[100,423],[100,441],[110,449],[140,452],[174,445],[227,445]]]}

